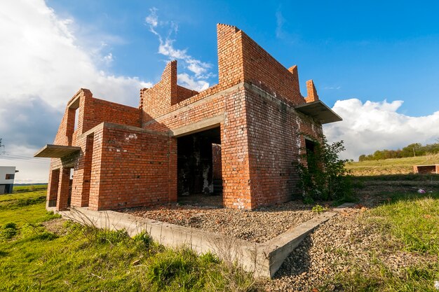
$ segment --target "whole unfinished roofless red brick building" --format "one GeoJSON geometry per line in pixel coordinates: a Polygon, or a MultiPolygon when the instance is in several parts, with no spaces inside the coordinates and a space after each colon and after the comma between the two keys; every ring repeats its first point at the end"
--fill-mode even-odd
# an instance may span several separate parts
{"type": "Polygon", "coordinates": [[[219,82],[202,92],[177,85],[176,61],[140,90],[139,108],[79,90],[53,144],[35,154],[53,158],[47,206],[121,209],[195,193],[221,193],[224,207],[240,209],[291,200],[292,162],[341,118],[313,81],[302,97],[297,67],[238,28],[217,25],[217,41],[219,82]]]}

